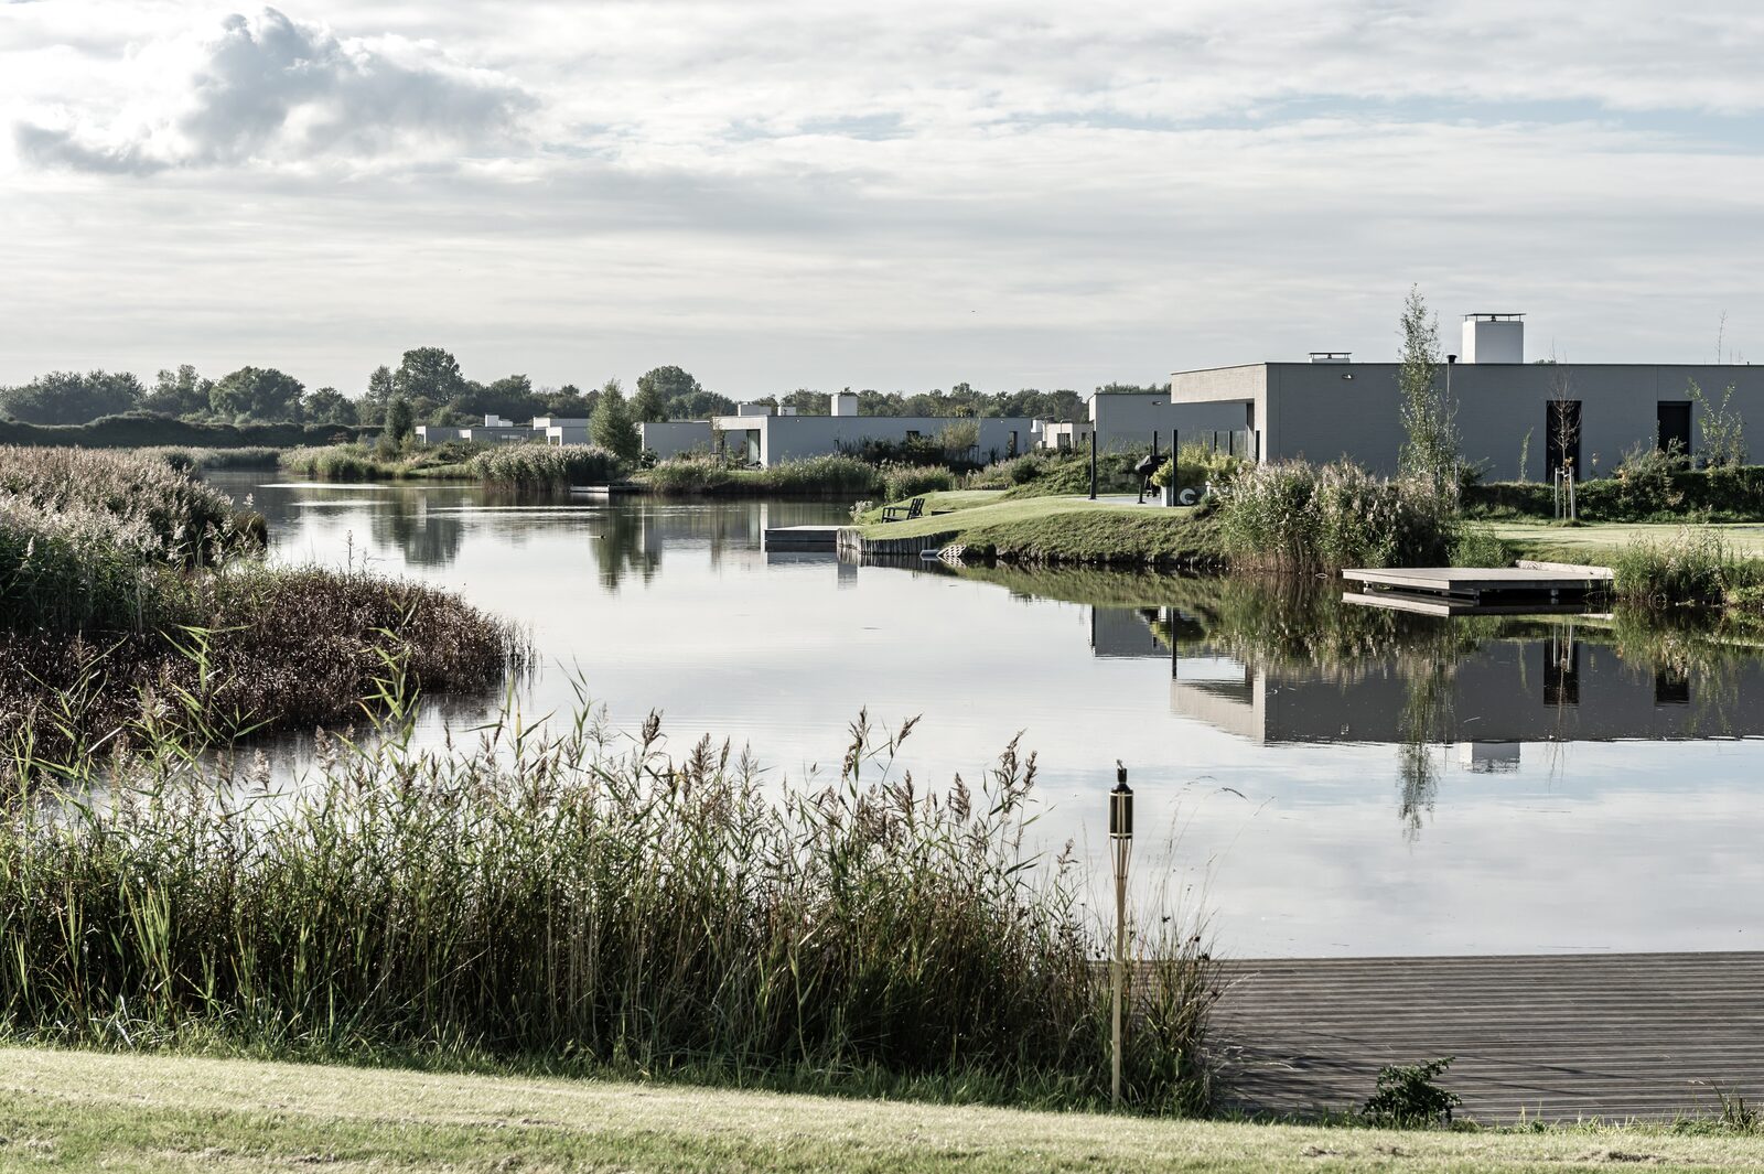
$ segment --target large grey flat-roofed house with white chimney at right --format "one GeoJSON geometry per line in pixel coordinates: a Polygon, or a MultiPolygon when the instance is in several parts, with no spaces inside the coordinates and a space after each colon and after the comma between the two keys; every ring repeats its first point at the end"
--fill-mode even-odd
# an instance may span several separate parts
{"type": "MultiPolygon", "coordinates": [[[[1764,368],[1734,363],[1526,363],[1517,314],[1464,317],[1462,358],[1450,365],[1464,458],[1487,479],[1547,479],[1572,460],[1575,476],[1609,472],[1635,446],[1674,439],[1704,450],[1704,409],[1690,384],[1716,404],[1764,420],[1764,368]],[[1528,441],[1529,437],[1529,441],[1528,441]],[[1528,467],[1519,467],[1521,451],[1528,467]]],[[[1265,460],[1348,457],[1395,472],[1404,432],[1397,363],[1355,363],[1332,353],[1307,363],[1244,363],[1175,372],[1180,404],[1231,405],[1265,460]]],[[[1446,365],[1439,367],[1443,386],[1446,365]]]]}

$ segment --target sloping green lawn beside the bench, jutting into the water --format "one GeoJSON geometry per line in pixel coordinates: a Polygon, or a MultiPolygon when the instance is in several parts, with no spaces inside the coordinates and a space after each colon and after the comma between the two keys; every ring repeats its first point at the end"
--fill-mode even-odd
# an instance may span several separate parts
{"type": "Polygon", "coordinates": [[[1014,497],[998,490],[926,494],[924,516],[884,524],[880,511],[859,520],[864,538],[949,536],[1007,559],[1053,562],[1175,562],[1219,554],[1210,522],[1192,509],[1138,506],[1131,499],[1014,497]],[[935,515],[933,511],[951,513],[935,515]]]}

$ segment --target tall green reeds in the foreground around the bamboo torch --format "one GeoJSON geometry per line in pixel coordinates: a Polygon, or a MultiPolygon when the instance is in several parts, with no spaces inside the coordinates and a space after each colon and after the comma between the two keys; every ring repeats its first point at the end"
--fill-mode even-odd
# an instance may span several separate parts
{"type": "MultiPolygon", "coordinates": [[[[284,793],[148,744],[0,802],[0,1035],[1104,1098],[1102,934],[1025,848],[1016,744],[928,791],[889,767],[912,723],[859,717],[836,779],[762,783],[653,716],[423,751],[395,677],[377,707],[284,793]]],[[[1141,925],[1127,1093],[1192,1112],[1215,975],[1141,925]]]]}

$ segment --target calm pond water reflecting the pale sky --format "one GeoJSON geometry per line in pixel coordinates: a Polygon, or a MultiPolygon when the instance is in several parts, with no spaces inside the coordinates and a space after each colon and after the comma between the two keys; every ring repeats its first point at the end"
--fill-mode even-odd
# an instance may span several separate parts
{"type": "MultiPolygon", "coordinates": [[[[252,494],[282,562],[362,561],[531,626],[529,712],[572,673],[672,746],[836,772],[859,710],[974,779],[1023,733],[1092,862],[1124,760],[1138,881],[1238,957],[1732,950],[1764,938],[1764,665],[1596,620],[1307,610],[1245,585],[767,555],[818,502],[534,504],[464,487],[252,494]],[[1155,850],[1175,837],[1175,853],[1155,850]]],[[[483,707],[452,700],[448,719],[483,707]]],[[[423,735],[439,735],[430,716],[423,735]]]]}

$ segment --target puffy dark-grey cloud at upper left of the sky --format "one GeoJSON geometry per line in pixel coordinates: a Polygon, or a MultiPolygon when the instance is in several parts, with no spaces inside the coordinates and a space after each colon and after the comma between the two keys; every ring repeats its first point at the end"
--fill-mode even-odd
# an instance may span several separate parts
{"type": "Polygon", "coordinates": [[[131,129],[19,122],[19,155],[95,173],[469,152],[508,139],[531,95],[432,42],[339,41],[275,9],[240,14],[196,49],[171,109],[131,129]]]}

